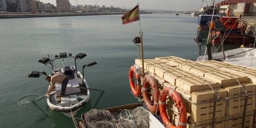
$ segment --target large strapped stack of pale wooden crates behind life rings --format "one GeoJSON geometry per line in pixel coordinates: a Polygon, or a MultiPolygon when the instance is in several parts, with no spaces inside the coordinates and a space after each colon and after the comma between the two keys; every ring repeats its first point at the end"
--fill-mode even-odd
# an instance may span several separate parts
{"type": "MultiPolygon", "coordinates": [[[[135,64],[142,67],[142,60],[135,60],[135,64]]],[[[158,79],[161,88],[172,87],[184,97],[189,115],[187,127],[211,127],[215,94],[219,98],[215,121],[229,119],[216,123],[215,127],[241,127],[242,118],[236,117],[242,116],[244,111],[245,90],[249,94],[246,114],[254,113],[255,69],[216,61],[194,62],[179,57],[158,57],[144,60],[144,70],[158,79]]],[[[169,117],[177,123],[176,114],[169,113],[169,117]]],[[[254,117],[247,116],[245,127],[252,127],[253,122],[254,117]]]]}

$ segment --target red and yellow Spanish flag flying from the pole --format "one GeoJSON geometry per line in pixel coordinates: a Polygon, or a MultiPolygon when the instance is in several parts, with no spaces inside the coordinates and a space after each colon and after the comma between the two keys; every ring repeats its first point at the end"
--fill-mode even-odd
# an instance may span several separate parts
{"type": "Polygon", "coordinates": [[[124,14],[121,18],[123,25],[140,20],[139,5],[135,6],[132,10],[126,12],[126,14],[124,14]]]}

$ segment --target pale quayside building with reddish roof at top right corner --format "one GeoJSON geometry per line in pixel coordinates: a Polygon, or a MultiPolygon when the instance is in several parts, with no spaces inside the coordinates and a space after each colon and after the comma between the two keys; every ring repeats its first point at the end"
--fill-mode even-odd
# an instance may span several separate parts
{"type": "Polygon", "coordinates": [[[221,8],[226,8],[225,14],[239,17],[256,16],[255,0],[225,0],[217,4],[221,8]]]}

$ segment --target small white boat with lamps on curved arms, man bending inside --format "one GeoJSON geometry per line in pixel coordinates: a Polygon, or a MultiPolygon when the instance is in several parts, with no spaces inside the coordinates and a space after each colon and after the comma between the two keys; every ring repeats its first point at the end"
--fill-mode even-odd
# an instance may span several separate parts
{"type": "MultiPolygon", "coordinates": [[[[51,110],[59,111],[69,116],[70,112],[76,113],[79,108],[85,105],[90,99],[90,90],[88,88],[87,81],[83,77],[83,74],[77,71],[77,60],[81,60],[86,57],[86,54],[79,53],[75,57],[72,54],[67,55],[66,52],[55,55],[55,58],[43,57],[38,62],[43,63],[53,71],[52,74],[46,74],[45,71],[31,71],[28,74],[29,78],[39,78],[42,74],[46,77],[51,77],[55,73],[61,73],[66,75],[69,79],[66,87],[65,94],[61,96],[61,83],[56,82],[54,90],[47,95],[47,104],[51,110]],[[64,60],[74,59],[74,65],[65,65],[64,60]],[[56,66],[58,60],[61,60],[62,66],[56,66]],[[61,97],[60,97],[61,96],[61,97]],[[58,97],[61,101],[58,101],[58,97]]],[[[96,62],[83,65],[83,69],[87,66],[95,65],[96,62]]]]}

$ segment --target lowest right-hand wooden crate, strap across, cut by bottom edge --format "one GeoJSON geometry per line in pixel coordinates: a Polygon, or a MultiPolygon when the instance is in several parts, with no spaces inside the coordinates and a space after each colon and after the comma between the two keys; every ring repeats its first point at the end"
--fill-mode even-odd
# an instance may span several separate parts
{"type": "MultiPolygon", "coordinates": [[[[251,128],[253,124],[254,124],[254,116],[247,116],[245,118],[245,128],[251,128]]],[[[242,118],[226,121],[225,128],[241,128],[241,127],[242,127],[242,118]]]]}

